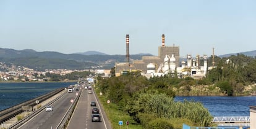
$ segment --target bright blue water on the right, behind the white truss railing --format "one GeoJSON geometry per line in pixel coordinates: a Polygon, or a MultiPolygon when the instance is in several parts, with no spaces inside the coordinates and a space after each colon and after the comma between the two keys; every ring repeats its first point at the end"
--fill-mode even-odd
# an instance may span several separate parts
{"type": "Polygon", "coordinates": [[[176,96],[175,101],[199,101],[214,117],[250,116],[249,106],[256,106],[256,96],[176,96]]]}

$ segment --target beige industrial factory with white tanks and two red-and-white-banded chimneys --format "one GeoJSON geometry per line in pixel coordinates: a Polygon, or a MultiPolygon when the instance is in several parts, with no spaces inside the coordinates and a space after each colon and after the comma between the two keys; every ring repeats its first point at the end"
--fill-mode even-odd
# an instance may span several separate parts
{"type": "Polygon", "coordinates": [[[162,34],[162,44],[158,47],[158,56],[143,56],[142,60],[130,62],[129,55],[129,34],[126,34],[126,62],[116,63],[116,76],[120,76],[127,71],[142,71],[142,75],[150,78],[153,76],[164,76],[165,74],[176,74],[178,77],[194,77],[200,79],[207,73],[207,55],[192,58],[179,56],[179,46],[166,46],[165,36],[162,34]],[[200,60],[203,58],[203,66],[200,60]]]}

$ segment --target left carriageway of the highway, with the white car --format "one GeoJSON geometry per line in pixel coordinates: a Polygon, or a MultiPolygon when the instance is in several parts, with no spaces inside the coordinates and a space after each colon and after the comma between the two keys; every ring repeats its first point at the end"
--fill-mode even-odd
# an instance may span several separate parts
{"type": "Polygon", "coordinates": [[[75,92],[66,93],[62,98],[52,104],[53,111],[46,112],[43,110],[35,117],[30,119],[28,122],[24,123],[20,129],[51,129],[56,128],[61,122],[62,117],[66,114],[67,109],[69,109],[71,103],[70,100],[75,98],[75,92]]]}

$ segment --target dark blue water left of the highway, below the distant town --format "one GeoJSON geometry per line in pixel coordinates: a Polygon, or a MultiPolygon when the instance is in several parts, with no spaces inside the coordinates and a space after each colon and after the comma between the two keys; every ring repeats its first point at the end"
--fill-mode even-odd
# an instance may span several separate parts
{"type": "Polygon", "coordinates": [[[75,82],[7,83],[0,84],[0,111],[24,101],[45,95],[57,88],[68,87],[75,82]]]}

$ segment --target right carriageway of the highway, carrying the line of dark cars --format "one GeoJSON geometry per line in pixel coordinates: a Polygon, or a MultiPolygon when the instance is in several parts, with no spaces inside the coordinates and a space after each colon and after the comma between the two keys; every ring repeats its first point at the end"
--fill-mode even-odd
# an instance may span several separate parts
{"type": "Polygon", "coordinates": [[[77,107],[75,108],[74,114],[72,115],[69,125],[67,126],[67,129],[74,128],[111,129],[111,124],[109,123],[103,108],[101,108],[100,103],[98,103],[94,92],[92,94],[88,94],[88,90],[82,90],[77,107]],[[92,108],[95,107],[90,106],[91,101],[95,101],[96,107],[100,109],[101,122],[92,122],[92,108]]]}

